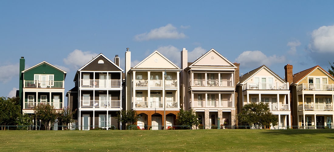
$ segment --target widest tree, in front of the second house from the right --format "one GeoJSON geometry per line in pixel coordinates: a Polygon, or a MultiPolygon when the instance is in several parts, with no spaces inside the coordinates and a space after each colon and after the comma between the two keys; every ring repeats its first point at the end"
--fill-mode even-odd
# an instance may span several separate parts
{"type": "Polygon", "coordinates": [[[238,120],[245,126],[276,126],[278,117],[273,115],[267,104],[250,103],[243,106],[241,112],[237,115],[238,120]]]}

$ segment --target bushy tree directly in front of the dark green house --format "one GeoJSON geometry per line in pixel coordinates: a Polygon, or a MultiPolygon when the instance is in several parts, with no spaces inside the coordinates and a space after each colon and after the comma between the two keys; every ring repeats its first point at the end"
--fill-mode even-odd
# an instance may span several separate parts
{"type": "Polygon", "coordinates": [[[57,111],[49,104],[40,104],[34,109],[36,119],[41,120],[45,129],[50,130],[52,124],[58,117],[57,111]]]}

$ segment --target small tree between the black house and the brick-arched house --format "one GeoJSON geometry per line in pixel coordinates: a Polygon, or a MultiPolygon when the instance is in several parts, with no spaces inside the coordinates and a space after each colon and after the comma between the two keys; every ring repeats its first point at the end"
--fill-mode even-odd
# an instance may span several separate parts
{"type": "Polygon", "coordinates": [[[127,129],[128,126],[137,124],[138,119],[139,116],[135,110],[122,110],[117,112],[117,122],[122,122],[122,124],[125,125],[125,129],[127,129]]]}

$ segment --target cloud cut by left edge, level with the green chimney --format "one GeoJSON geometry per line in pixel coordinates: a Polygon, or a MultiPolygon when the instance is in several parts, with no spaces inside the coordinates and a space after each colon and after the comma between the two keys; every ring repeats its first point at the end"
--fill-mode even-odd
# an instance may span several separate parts
{"type": "Polygon", "coordinates": [[[0,82],[7,83],[9,82],[15,75],[19,75],[20,66],[19,64],[12,65],[3,65],[0,66],[0,82]]]}

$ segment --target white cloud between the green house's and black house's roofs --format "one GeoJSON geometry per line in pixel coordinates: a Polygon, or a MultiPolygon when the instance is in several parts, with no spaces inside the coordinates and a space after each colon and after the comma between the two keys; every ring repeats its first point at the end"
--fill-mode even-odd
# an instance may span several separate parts
{"type": "Polygon", "coordinates": [[[65,64],[78,69],[96,57],[98,54],[91,53],[90,51],[83,52],[81,50],[75,49],[73,52],[67,55],[63,61],[65,64]]]}

